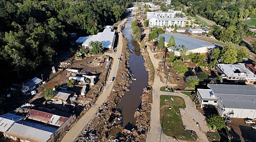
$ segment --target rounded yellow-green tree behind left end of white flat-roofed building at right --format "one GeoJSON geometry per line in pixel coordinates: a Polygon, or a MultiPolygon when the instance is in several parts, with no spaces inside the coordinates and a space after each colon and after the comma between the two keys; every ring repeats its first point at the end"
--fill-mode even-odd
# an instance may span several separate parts
{"type": "Polygon", "coordinates": [[[233,44],[229,43],[222,49],[221,61],[225,64],[234,64],[237,62],[237,49],[233,44]]]}

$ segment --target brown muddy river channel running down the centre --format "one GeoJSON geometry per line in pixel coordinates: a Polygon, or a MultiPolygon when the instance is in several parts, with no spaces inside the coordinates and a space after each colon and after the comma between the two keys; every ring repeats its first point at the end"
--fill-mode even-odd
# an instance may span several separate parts
{"type": "Polygon", "coordinates": [[[131,36],[132,20],[133,18],[130,17],[122,32],[125,35],[125,38],[129,40],[129,48],[134,51],[131,53],[128,61],[131,73],[134,74],[134,78],[137,78],[137,80],[131,83],[130,91],[127,91],[125,95],[123,95],[122,101],[117,106],[117,108],[122,111],[123,125],[127,130],[131,130],[135,125],[134,112],[141,105],[143,88],[148,85],[148,72],[144,66],[141,49],[139,48],[137,41],[134,41],[133,36],[131,36]]]}

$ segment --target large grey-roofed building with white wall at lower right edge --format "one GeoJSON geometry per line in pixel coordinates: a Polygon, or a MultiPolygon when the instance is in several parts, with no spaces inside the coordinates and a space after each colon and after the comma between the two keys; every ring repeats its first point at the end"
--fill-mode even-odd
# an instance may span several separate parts
{"type": "Polygon", "coordinates": [[[251,85],[208,84],[218,98],[221,116],[256,118],[256,87],[251,85]]]}

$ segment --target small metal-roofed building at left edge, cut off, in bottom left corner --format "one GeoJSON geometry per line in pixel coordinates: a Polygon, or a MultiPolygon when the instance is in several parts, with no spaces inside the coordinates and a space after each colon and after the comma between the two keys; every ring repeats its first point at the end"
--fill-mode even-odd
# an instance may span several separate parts
{"type": "Polygon", "coordinates": [[[18,116],[10,113],[1,115],[0,116],[0,132],[6,132],[7,130],[9,130],[11,126],[13,126],[15,122],[18,122],[23,118],[24,118],[23,116],[18,116]]]}

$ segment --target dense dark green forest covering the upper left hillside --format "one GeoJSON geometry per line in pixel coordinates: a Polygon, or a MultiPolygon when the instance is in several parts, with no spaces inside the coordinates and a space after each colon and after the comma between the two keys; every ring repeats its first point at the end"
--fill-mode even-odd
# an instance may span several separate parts
{"type": "Polygon", "coordinates": [[[52,65],[69,33],[93,35],[117,22],[131,1],[1,0],[0,88],[52,65]]]}

